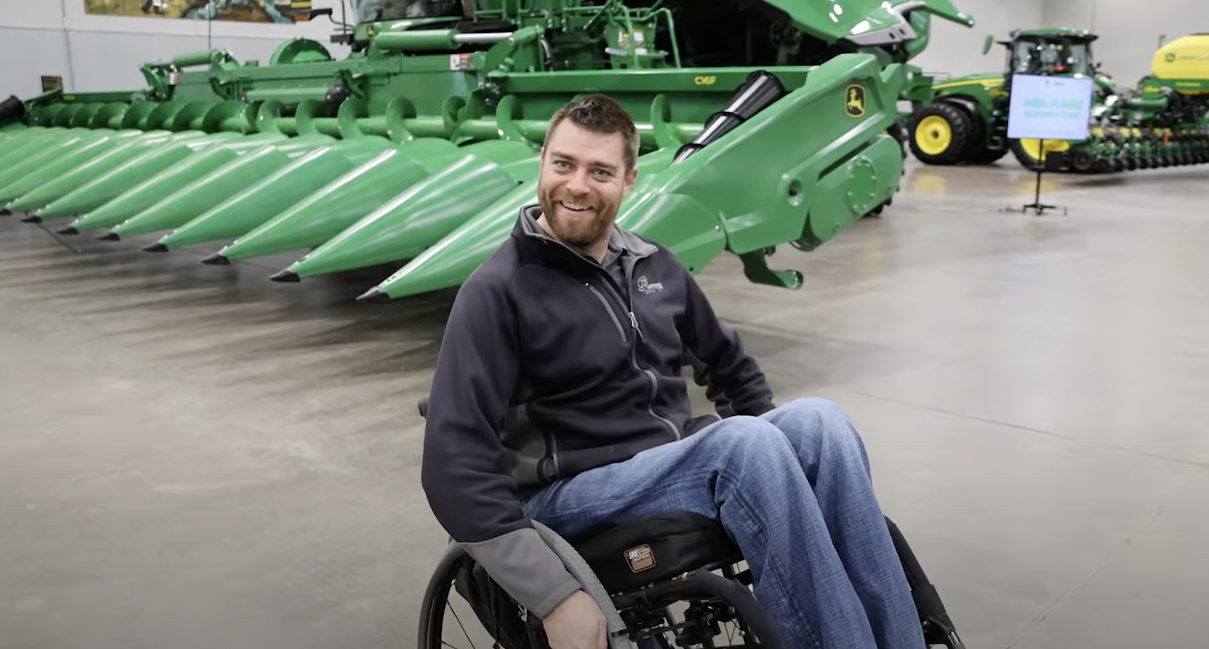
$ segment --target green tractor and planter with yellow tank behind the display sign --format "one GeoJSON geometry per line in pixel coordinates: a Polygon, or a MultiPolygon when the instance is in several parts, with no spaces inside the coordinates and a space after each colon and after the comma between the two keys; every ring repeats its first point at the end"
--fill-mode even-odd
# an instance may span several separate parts
{"type": "MultiPolygon", "coordinates": [[[[1007,71],[935,83],[910,120],[910,149],[929,164],[989,164],[1011,151],[1025,168],[1105,173],[1209,163],[1209,35],[1176,39],[1153,56],[1135,88],[1118,88],[1093,60],[1097,35],[1072,29],[1012,33],[1007,71]],[[1093,77],[1084,141],[1010,140],[1012,75],[1093,77]]],[[[990,50],[987,41],[984,53],[990,50]]]]}

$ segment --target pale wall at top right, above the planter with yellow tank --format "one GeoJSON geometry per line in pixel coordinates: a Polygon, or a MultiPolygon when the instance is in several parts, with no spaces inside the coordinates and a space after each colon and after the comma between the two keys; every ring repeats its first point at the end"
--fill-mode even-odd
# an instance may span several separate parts
{"type": "Polygon", "coordinates": [[[1209,33],[1209,0],[1047,0],[1051,27],[1089,29],[1099,34],[1093,53],[1103,71],[1121,86],[1134,87],[1151,68],[1159,37],[1209,33]]]}

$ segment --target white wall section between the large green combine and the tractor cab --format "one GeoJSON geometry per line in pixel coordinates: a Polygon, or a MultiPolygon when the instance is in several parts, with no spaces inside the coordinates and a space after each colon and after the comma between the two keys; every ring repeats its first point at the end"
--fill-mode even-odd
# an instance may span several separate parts
{"type": "Polygon", "coordinates": [[[1003,48],[995,46],[982,56],[987,36],[1003,40],[1012,29],[1042,27],[1042,0],[953,0],[953,4],[974,17],[974,27],[933,18],[932,40],[913,62],[938,79],[1000,71],[1003,48]]]}

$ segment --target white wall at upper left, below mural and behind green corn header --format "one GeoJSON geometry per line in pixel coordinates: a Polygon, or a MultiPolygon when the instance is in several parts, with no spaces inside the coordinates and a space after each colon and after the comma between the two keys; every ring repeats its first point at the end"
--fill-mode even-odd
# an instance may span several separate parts
{"type": "MultiPolygon", "coordinates": [[[[312,4],[335,7],[340,19],[340,0],[312,4]]],[[[326,17],[296,25],[183,21],[87,15],[83,0],[0,0],[0,98],[39,94],[42,75],[62,76],[74,92],[138,89],[146,86],[140,64],[210,47],[266,64],[299,36],[343,57],[348,48],[329,41],[336,30],[326,17]]]]}

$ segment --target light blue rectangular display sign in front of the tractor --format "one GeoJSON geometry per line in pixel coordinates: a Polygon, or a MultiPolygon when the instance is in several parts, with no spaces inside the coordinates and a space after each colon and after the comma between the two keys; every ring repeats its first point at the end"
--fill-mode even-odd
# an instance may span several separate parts
{"type": "Polygon", "coordinates": [[[1092,120],[1092,89],[1091,77],[1013,75],[1007,137],[1086,140],[1092,120]]]}

